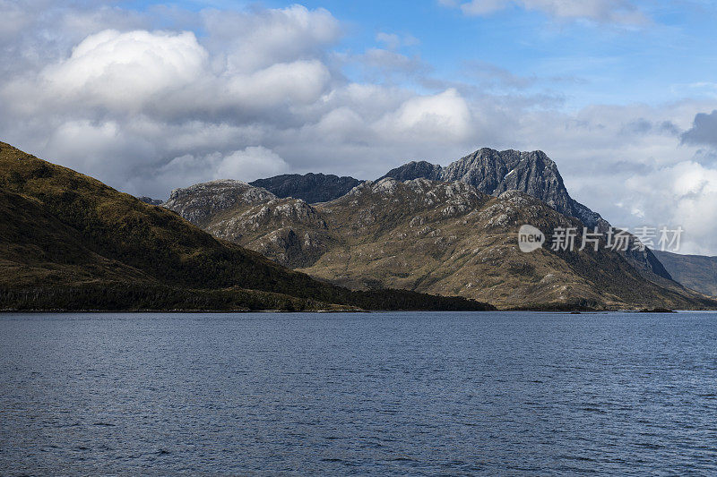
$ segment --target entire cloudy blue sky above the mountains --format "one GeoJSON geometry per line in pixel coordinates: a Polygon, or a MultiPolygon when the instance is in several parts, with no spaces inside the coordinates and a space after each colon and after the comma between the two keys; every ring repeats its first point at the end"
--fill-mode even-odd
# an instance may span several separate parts
{"type": "Polygon", "coordinates": [[[717,3],[0,0],[0,141],[166,199],[545,151],[615,226],[717,255],[717,3]]]}

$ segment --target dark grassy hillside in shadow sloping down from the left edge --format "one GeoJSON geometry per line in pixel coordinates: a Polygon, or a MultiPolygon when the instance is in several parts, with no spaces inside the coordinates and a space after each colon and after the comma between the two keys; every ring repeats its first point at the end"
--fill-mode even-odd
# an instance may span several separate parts
{"type": "Polygon", "coordinates": [[[0,309],[488,308],[317,281],[4,142],[0,225],[0,309]]]}

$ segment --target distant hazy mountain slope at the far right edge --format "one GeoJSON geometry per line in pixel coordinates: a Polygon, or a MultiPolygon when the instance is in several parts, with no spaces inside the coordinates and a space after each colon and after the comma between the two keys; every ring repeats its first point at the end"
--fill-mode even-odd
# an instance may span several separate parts
{"type": "Polygon", "coordinates": [[[717,296],[717,257],[654,251],[669,275],[700,293],[717,296]]]}

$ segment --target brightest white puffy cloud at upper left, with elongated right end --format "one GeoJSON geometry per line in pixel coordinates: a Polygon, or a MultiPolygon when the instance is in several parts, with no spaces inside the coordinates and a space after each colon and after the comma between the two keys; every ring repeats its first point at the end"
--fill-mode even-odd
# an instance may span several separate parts
{"type": "Polygon", "coordinates": [[[10,81],[0,97],[26,114],[79,107],[87,115],[246,117],[273,106],[315,102],[330,81],[327,67],[316,59],[233,74],[210,71],[209,60],[193,32],[105,30],[36,76],[10,81]]]}

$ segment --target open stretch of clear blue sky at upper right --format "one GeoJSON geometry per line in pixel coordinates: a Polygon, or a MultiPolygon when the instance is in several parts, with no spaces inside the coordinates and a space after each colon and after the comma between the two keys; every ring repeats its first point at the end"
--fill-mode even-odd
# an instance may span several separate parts
{"type": "MultiPolygon", "coordinates": [[[[138,11],[171,5],[203,9],[281,8],[294,2],[130,2],[138,11]]],[[[680,98],[717,97],[717,4],[707,1],[630,2],[644,23],[615,24],[591,18],[560,18],[519,4],[485,15],[467,15],[436,0],[301,2],[324,8],[345,27],[335,51],[385,47],[379,33],[415,38],[404,55],[419,58],[446,81],[471,81],[471,64],[491,64],[531,80],[530,92],[562,96],[565,107],[592,103],[660,104],[680,98]]],[[[157,22],[161,27],[161,21],[157,22]]],[[[195,28],[202,34],[201,28],[195,28]]],[[[360,72],[347,67],[356,81],[360,72]]],[[[403,79],[410,82],[410,79],[403,79]]],[[[421,87],[416,84],[416,87],[421,87]]],[[[514,89],[497,85],[496,90],[514,89]]]]}

